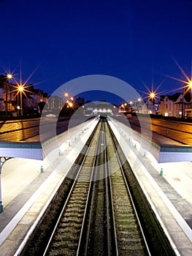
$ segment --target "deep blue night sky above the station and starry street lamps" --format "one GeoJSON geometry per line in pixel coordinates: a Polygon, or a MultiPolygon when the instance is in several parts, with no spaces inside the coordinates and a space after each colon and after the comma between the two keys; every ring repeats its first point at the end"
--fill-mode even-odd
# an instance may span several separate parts
{"type": "MultiPolygon", "coordinates": [[[[0,72],[21,65],[26,80],[38,67],[29,81],[49,94],[84,75],[141,91],[162,74],[185,80],[174,59],[191,76],[191,0],[0,0],[0,24],[0,72]]],[[[158,91],[180,86],[166,78],[158,91]]]]}

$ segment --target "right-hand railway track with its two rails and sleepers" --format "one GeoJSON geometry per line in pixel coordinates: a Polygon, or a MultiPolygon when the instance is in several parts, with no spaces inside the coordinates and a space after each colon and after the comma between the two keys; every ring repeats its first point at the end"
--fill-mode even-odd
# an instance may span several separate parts
{"type": "MultiPolygon", "coordinates": [[[[107,127],[107,135],[110,129],[107,127]]],[[[108,138],[108,154],[110,162],[110,192],[115,219],[115,230],[118,246],[118,255],[150,255],[142,225],[139,222],[137,209],[126,180],[123,165],[118,157],[114,141],[108,138]],[[116,157],[114,157],[116,156],[116,157]],[[114,166],[117,171],[114,171],[114,166]]]]}

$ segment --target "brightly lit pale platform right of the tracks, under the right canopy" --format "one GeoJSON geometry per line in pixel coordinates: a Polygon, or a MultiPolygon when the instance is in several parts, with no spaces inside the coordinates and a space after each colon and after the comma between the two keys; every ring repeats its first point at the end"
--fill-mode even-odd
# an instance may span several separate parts
{"type": "MultiPolygon", "coordinates": [[[[144,155],[123,129],[119,132],[114,123],[111,127],[175,254],[192,255],[192,162],[159,163],[151,148],[144,155]]],[[[158,136],[153,138],[159,141],[158,136]]]]}

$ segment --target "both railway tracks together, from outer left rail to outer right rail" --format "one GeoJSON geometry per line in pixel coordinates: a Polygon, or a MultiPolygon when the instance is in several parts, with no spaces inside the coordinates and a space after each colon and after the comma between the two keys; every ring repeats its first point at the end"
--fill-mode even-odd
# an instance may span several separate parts
{"type": "Polygon", "coordinates": [[[44,255],[150,255],[116,153],[100,121],[44,255]]]}

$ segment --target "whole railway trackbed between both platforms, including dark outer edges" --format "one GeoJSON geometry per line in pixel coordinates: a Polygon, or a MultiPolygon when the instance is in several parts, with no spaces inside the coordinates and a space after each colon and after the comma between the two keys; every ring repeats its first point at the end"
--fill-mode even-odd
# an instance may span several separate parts
{"type": "Polygon", "coordinates": [[[175,255],[106,118],[100,118],[70,177],[20,256],[175,255]]]}

